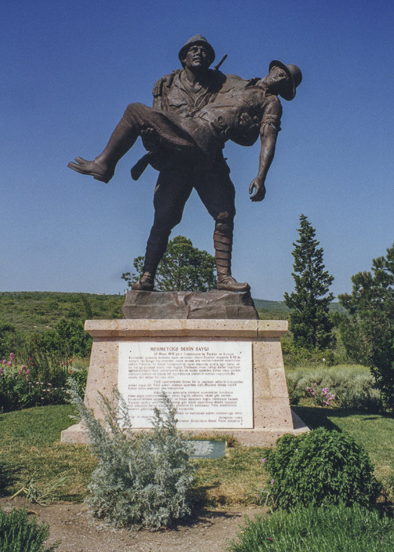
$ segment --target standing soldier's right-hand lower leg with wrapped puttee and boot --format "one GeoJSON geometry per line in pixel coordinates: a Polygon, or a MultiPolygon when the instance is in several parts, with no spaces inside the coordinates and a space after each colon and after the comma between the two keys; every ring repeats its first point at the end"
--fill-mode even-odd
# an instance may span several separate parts
{"type": "Polygon", "coordinates": [[[246,282],[237,282],[231,275],[231,252],[233,250],[233,223],[215,224],[213,234],[215,246],[217,289],[226,291],[250,291],[246,282]]]}

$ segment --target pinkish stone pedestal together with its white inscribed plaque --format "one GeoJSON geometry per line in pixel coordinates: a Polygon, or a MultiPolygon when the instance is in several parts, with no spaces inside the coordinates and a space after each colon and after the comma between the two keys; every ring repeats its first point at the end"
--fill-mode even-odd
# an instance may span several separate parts
{"type": "MultiPolygon", "coordinates": [[[[161,392],[177,407],[184,433],[264,446],[308,431],[288,401],[284,320],[87,320],[85,329],[93,337],[85,403],[96,417],[99,393],[110,398],[117,387],[135,432],[150,430],[161,392]]],[[[71,426],[61,442],[86,442],[86,431],[71,426]]]]}

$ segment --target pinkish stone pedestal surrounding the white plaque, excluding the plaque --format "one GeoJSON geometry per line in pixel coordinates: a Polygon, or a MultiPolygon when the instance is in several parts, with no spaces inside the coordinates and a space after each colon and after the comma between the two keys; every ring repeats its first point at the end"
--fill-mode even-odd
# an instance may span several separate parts
{"type": "MultiPolygon", "coordinates": [[[[234,320],[234,319],[126,319],[87,320],[86,331],[92,335],[92,355],[85,402],[101,417],[97,405],[97,393],[110,396],[118,384],[119,344],[122,342],[148,342],[154,347],[171,343],[190,342],[247,342],[251,346],[250,392],[252,417],[250,428],[193,427],[185,433],[204,435],[233,435],[244,445],[264,446],[273,444],[285,433],[308,431],[299,417],[292,413],[284,374],[280,337],[288,329],[287,321],[234,320]]],[[[214,343],[213,343],[214,345],[214,343]]],[[[130,366],[130,365],[129,365],[130,366]]],[[[122,366],[121,369],[128,369],[122,366]]],[[[192,367],[193,369],[193,367],[192,367]]],[[[196,366],[198,371],[199,367],[196,366]]],[[[141,373],[141,378],[144,374],[141,373]]],[[[152,409],[157,404],[152,404],[152,409]]],[[[175,404],[175,406],[177,406],[175,404]]],[[[210,407],[207,401],[207,411],[210,407]]],[[[148,426],[147,426],[148,427],[148,426]]],[[[132,431],[141,431],[133,427],[132,431]]],[[[80,424],[61,432],[61,442],[86,442],[86,433],[80,424]]]]}

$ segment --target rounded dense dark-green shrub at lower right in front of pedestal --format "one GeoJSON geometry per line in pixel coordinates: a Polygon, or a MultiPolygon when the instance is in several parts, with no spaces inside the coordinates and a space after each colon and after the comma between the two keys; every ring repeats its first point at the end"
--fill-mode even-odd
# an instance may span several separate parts
{"type": "Polygon", "coordinates": [[[266,461],[273,478],[275,504],[374,504],[380,484],[367,453],[345,433],[313,429],[303,435],[284,435],[266,461]]]}

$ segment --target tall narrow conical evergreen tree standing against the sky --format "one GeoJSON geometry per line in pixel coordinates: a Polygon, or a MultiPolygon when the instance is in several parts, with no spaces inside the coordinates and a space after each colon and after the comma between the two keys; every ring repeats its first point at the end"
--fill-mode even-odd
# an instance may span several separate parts
{"type": "Polygon", "coordinates": [[[328,293],[334,277],[324,270],[323,248],[318,248],[315,228],[305,215],[299,217],[299,239],[293,243],[295,291],[284,294],[290,313],[290,329],[297,347],[325,349],[334,342],[328,293]]]}

